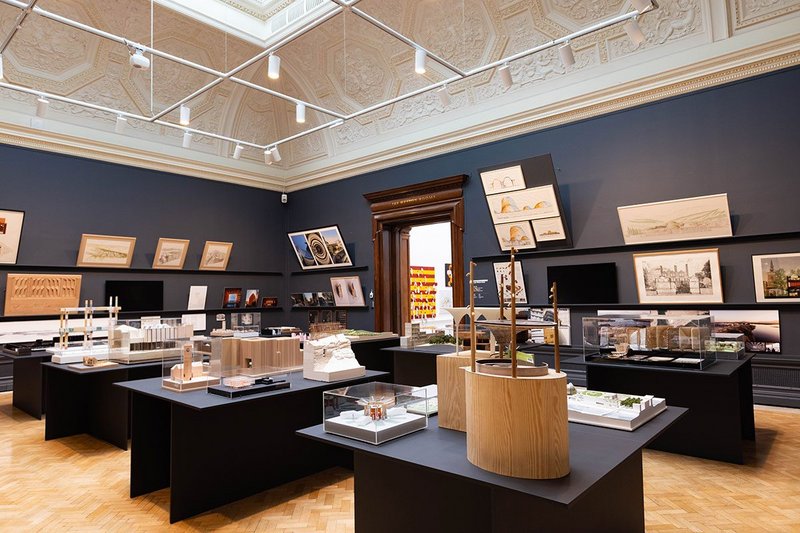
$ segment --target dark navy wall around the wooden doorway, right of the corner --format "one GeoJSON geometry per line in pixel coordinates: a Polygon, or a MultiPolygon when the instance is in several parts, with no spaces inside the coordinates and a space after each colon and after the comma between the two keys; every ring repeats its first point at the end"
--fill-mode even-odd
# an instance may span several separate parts
{"type": "MultiPolygon", "coordinates": [[[[529,298],[546,302],[547,265],[614,261],[620,302],[635,304],[635,247],[608,254],[585,251],[623,244],[617,206],[725,192],[734,235],[800,232],[799,93],[800,69],[795,68],[364,174],[290,194],[287,226],[294,230],[338,223],[355,264],[371,267],[364,193],[467,174],[465,257],[498,254],[477,169],[550,153],[575,246],[566,256],[524,260],[529,298]]],[[[800,251],[798,235],[719,245],[725,301],[753,304],[750,255],[800,251]]],[[[681,248],[700,246],[709,244],[688,242],[681,248]]],[[[288,264],[299,270],[296,261],[288,264]]],[[[359,274],[369,292],[372,271],[359,274]]],[[[491,263],[481,263],[479,274],[491,279],[491,263]]],[[[328,277],[289,277],[289,292],[326,290],[328,277]]],[[[573,324],[580,324],[576,319],[582,313],[574,313],[573,324]]],[[[298,325],[304,322],[302,312],[290,316],[298,325]]],[[[374,324],[371,311],[351,312],[350,319],[355,327],[374,324]]],[[[800,313],[782,306],[781,320],[784,351],[800,355],[800,313]]],[[[573,326],[573,341],[579,339],[579,327],[573,326]]]]}

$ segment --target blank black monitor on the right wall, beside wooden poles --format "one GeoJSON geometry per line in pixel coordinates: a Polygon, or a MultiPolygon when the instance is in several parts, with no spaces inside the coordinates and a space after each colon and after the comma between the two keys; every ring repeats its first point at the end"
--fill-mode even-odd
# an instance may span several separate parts
{"type": "Polygon", "coordinates": [[[547,267],[547,286],[558,284],[559,304],[615,304],[617,264],[564,265],[547,267]]]}

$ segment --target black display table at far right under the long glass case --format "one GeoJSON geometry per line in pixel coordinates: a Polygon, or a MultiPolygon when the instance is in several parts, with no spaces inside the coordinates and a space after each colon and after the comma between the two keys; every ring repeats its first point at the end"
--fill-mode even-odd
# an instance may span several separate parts
{"type": "Polygon", "coordinates": [[[587,362],[586,382],[590,389],[652,394],[689,408],[650,448],[742,464],[743,440],[755,440],[752,357],[718,360],[705,370],[587,362]]]}

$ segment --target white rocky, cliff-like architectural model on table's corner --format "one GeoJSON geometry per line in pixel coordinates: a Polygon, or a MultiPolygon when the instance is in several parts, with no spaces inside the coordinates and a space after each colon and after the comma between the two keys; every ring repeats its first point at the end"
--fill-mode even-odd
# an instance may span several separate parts
{"type": "Polygon", "coordinates": [[[361,377],[366,368],[356,360],[350,340],[344,335],[331,335],[303,344],[303,377],[316,381],[336,381],[361,377]]]}

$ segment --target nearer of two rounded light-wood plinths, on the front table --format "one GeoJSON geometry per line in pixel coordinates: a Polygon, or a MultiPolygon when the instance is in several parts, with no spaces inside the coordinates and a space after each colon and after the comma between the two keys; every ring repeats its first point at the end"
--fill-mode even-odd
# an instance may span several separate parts
{"type": "Polygon", "coordinates": [[[567,375],[512,378],[466,373],[467,459],[504,476],[569,474],[567,375]]]}

